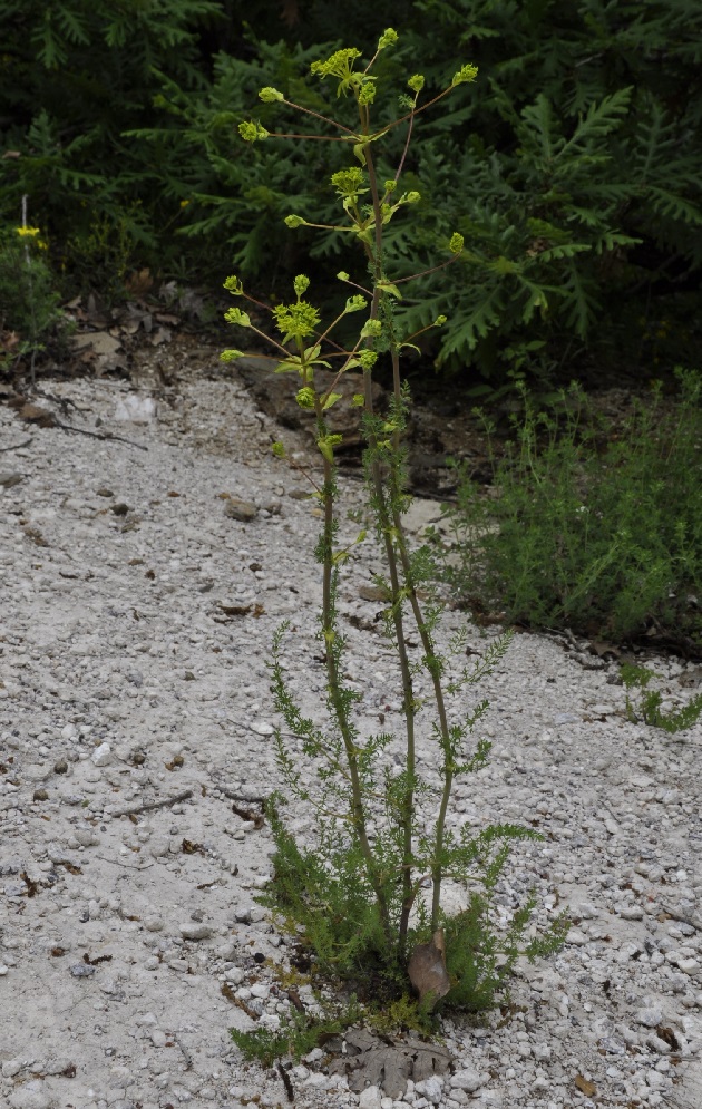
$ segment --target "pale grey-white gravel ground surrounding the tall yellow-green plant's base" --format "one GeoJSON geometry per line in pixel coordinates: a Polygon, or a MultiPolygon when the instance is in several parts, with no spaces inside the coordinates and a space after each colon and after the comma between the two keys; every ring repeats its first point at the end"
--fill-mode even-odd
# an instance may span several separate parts
{"type": "MultiPolygon", "coordinates": [[[[323,1051],[284,1083],[228,1035],[290,1004],[287,941],[255,903],[259,798],[276,784],[265,664],[287,619],[302,695],[323,688],[315,503],[236,379],[182,383],[145,425],[124,382],[45,389],[62,422],[130,441],[0,409],[0,1103],[359,1105],[323,1051]]],[[[358,506],[359,483],[342,489],[358,506]]],[[[373,560],[362,544],[341,597],[368,730],[401,721],[378,604],[359,595],[373,560]]],[[[485,649],[477,629],[468,642],[485,649]]],[[[654,669],[677,702],[698,680],[654,669]]],[[[535,886],[542,923],[564,906],[575,923],[557,956],[519,964],[509,1012],[445,1023],[447,1073],[394,1100],[370,1087],[361,1109],[700,1109],[702,729],[627,722],[614,677],[523,634],[480,691],[493,760],[451,820],[538,827],[499,904],[535,886]]]]}

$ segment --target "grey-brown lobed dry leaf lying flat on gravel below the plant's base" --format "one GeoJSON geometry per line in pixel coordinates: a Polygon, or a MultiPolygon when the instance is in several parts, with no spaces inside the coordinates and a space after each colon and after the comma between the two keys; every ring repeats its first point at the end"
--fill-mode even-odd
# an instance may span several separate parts
{"type": "Polygon", "coordinates": [[[451,1063],[446,1048],[408,1037],[380,1038],[365,1029],[351,1029],[344,1037],[347,1054],[334,1059],[330,1074],[345,1074],[349,1087],[360,1093],[368,1086],[382,1088],[389,1098],[400,1098],[407,1080],[421,1082],[431,1074],[445,1074],[451,1063]]]}

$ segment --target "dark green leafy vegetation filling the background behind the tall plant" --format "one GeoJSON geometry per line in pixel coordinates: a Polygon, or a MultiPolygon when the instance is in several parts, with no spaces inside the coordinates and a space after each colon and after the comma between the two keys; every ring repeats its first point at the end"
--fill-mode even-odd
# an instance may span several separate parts
{"type": "MultiPolygon", "coordinates": [[[[264,144],[243,158],[236,125],[264,76],[321,106],[310,60],[348,42],[370,52],[387,21],[378,4],[0,0],[0,21],[2,239],[28,195],[64,295],[117,296],[148,267],[213,288],[234,269],[271,298],[310,250],[315,276],[335,272],[337,236],[281,234],[291,208],[333,204],[326,145],[310,158],[311,144],[264,144]]],[[[404,286],[412,328],[452,305],[427,356],[469,368],[476,395],[515,377],[692,364],[700,6],[402,0],[393,21],[400,48],[380,78],[423,72],[431,95],[465,61],[480,67],[450,117],[418,126],[404,186],[421,189],[421,218],[389,228],[406,272],[452,230],[470,245],[430,292],[404,286]]],[[[260,106],[262,123],[280,127],[271,110],[260,106]]],[[[13,328],[2,288],[0,322],[13,328]]]]}

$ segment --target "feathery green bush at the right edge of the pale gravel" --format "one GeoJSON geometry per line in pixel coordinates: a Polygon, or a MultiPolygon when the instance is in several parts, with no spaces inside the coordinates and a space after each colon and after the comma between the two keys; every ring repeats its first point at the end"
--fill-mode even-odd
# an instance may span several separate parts
{"type": "Polygon", "coordinates": [[[560,421],[525,395],[516,438],[495,465],[497,497],[468,480],[449,513],[448,574],[476,610],[532,628],[610,639],[646,632],[702,650],[702,377],[637,402],[615,436],[579,389],[560,421]]]}

